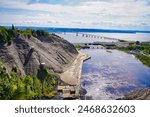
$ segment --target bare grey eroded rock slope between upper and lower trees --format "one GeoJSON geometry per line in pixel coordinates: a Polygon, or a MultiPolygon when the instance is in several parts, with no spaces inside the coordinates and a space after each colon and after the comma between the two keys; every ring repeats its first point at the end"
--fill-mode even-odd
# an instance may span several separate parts
{"type": "Polygon", "coordinates": [[[74,46],[58,36],[37,39],[20,35],[10,46],[0,44],[0,60],[8,71],[15,66],[21,75],[37,75],[41,64],[60,73],[77,55],[74,46]]]}

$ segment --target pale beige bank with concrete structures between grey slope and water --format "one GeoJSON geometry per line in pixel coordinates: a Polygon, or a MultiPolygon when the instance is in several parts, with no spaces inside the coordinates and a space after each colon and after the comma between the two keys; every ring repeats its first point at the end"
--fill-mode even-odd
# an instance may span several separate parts
{"type": "Polygon", "coordinates": [[[74,62],[60,74],[60,79],[65,85],[58,86],[58,92],[63,99],[74,99],[80,97],[80,79],[82,76],[83,62],[90,59],[88,54],[79,51],[74,62]]]}

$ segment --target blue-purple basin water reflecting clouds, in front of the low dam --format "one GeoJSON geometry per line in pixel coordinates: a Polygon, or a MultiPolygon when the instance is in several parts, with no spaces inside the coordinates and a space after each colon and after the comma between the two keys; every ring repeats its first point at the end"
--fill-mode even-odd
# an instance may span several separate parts
{"type": "Polygon", "coordinates": [[[117,99],[133,90],[150,87],[150,68],[118,50],[81,50],[92,58],[84,62],[81,86],[94,100],[117,99]]]}

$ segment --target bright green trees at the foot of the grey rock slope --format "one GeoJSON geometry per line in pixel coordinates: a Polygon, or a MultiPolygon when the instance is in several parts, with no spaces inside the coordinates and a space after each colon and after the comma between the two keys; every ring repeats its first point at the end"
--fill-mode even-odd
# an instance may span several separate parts
{"type": "Polygon", "coordinates": [[[15,72],[6,72],[0,62],[0,99],[40,99],[52,98],[57,79],[52,73],[43,71],[42,82],[37,77],[19,76],[15,72]]]}

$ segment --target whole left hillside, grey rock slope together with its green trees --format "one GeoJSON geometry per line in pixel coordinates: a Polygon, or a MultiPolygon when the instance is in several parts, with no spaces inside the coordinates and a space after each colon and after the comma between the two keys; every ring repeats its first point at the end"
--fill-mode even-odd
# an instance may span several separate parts
{"type": "MultiPolygon", "coordinates": [[[[0,27],[0,46],[0,99],[3,100],[51,99],[56,94],[58,76],[55,73],[61,71],[59,70],[59,66],[65,64],[66,61],[73,61],[74,57],[77,55],[72,44],[62,40],[55,34],[50,34],[44,30],[32,30],[29,28],[26,30],[19,30],[13,25],[12,28],[0,27]],[[32,44],[35,45],[35,52],[33,52],[32,44]],[[69,47],[70,50],[67,50],[67,47],[69,47]],[[12,52],[15,54],[11,54],[12,52]],[[66,54],[62,56],[60,53],[64,52],[66,52],[66,54]],[[16,59],[14,55],[17,55],[19,59],[18,57],[16,59]],[[22,56],[27,57],[27,59],[22,56]],[[54,67],[56,66],[51,66],[53,64],[49,62],[49,59],[45,59],[45,56],[49,58],[56,57],[56,59],[51,60],[53,60],[53,64],[55,63],[57,65],[58,70],[55,70],[54,67]],[[47,64],[40,68],[40,78],[37,74],[30,75],[26,72],[25,69],[28,62],[33,63],[33,67],[36,65],[35,69],[38,71],[39,63],[41,64],[41,61],[45,62],[45,60],[47,64]],[[25,64],[22,61],[25,61],[25,64]],[[12,65],[10,64],[15,64],[16,66],[11,67],[12,65]],[[49,69],[47,69],[47,66],[49,66],[49,69]],[[56,72],[51,72],[51,69],[56,72]],[[22,73],[24,74],[22,75],[22,73]]],[[[31,67],[30,69],[33,70],[31,63],[29,63],[30,66],[27,66],[27,68],[31,67]]]]}

